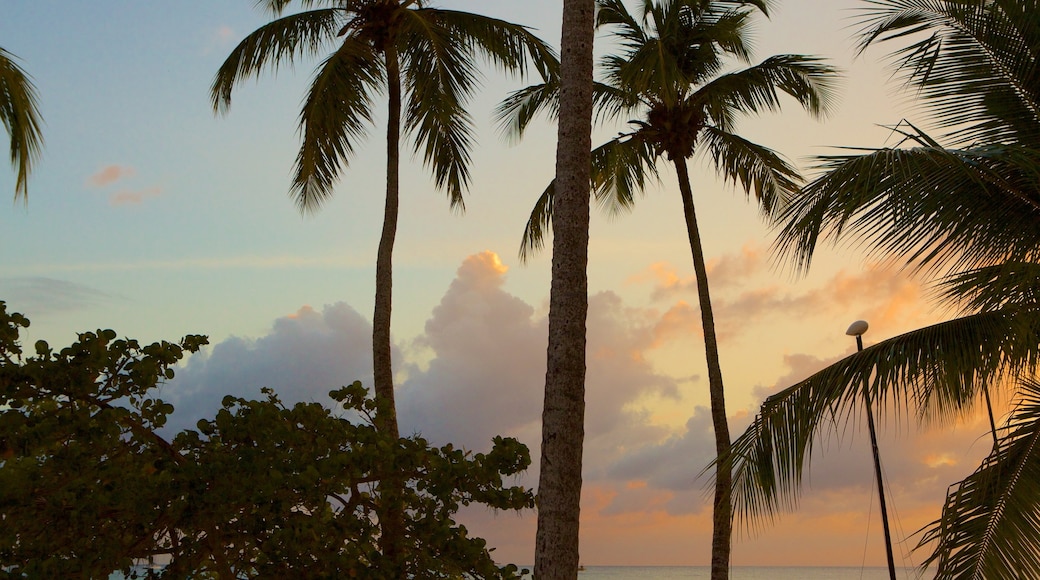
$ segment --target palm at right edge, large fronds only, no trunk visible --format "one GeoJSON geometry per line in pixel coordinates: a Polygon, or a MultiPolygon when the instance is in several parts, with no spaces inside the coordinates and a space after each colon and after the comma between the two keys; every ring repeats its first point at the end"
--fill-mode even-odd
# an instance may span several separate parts
{"type": "Polygon", "coordinates": [[[736,511],[792,507],[812,442],[841,429],[864,381],[878,411],[950,419],[1008,389],[1018,406],[979,469],[921,535],[943,578],[1040,576],[1040,14],[1038,0],[875,0],[860,50],[893,52],[944,131],[900,124],[893,148],[822,160],[778,215],[777,248],[809,267],[820,240],[854,239],[937,284],[960,317],[853,354],[762,404],[734,442],[736,511]],[[941,142],[940,142],[941,141],[941,142]],[[943,144],[944,143],[944,144],[943,144]]]}

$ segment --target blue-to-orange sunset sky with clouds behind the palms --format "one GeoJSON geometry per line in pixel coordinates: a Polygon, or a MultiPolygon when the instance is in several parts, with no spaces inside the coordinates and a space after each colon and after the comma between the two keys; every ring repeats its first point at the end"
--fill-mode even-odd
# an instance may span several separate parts
{"type": "MultiPolygon", "coordinates": [[[[6,4],[0,20],[0,47],[40,91],[46,141],[28,204],[0,208],[0,299],[32,321],[25,344],[63,345],[96,328],[141,341],[208,335],[211,346],[163,387],[182,425],[212,415],[229,393],[271,387],[287,401],[328,401],[331,389],[371,379],[382,116],[335,196],[316,213],[297,212],[288,187],[316,60],[241,83],[228,114],[215,115],[209,101],[223,60],[267,21],[253,4],[37,0],[6,4]]],[[[524,24],[558,45],[558,2],[437,5],[524,24]]],[[[883,126],[928,126],[889,79],[884,49],[856,56],[862,5],[780,0],[771,20],[756,21],[756,61],[814,54],[843,70],[826,121],[787,101],[780,114],[740,122],[742,135],[808,175],[811,157],[835,147],[890,144],[883,126]]],[[[523,85],[489,70],[471,102],[478,146],[465,214],[450,211],[421,159],[405,151],[393,340],[402,432],[474,450],[495,434],[516,437],[535,455],[521,482],[535,485],[550,256],[521,264],[517,248],[552,176],[555,131],[540,122],[512,142],[492,123],[495,104],[523,85]]],[[[594,142],[618,130],[597,128],[594,142]]],[[[698,167],[694,193],[734,436],[765,396],[852,352],[852,321],[869,321],[870,344],[950,316],[932,307],[920,280],[862,247],[824,248],[796,276],[771,254],[773,232],[743,191],[698,167]]],[[[14,169],[0,167],[0,199],[14,189],[14,169]]],[[[587,565],[709,562],[708,481],[699,475],[713,444],[680,216],[667,168],[630,214],[593,212],[587,565]]],[[[921,559],[909,555],[913,532],[938,517],[946,486],[987,451],[985,424],[880,422],[896,562],[913,565],[921,559]]],[[[817,447],[796,512],[742,528],[734,564],[884,564],[861,423],[817,447]]],[[[468,509],[462,518],[498,559],[534,560],[534,512],[468,509]]]]}

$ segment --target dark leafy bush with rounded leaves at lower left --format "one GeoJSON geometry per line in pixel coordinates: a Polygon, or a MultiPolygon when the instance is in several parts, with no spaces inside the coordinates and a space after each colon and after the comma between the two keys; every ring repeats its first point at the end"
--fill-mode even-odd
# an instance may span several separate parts
{"type": "Polygon", "coordinates": [[[407,573],[416,578],[517,578],[453,517],[460,506],[534,506],[503,477],[527,448],[495,438],[488,453],[419,437],[390,439],[368,420],[360,383],[318,403],[225,397],[198,430],[160,428],[174,407],[156,396],[185,352],[207,343],[141,346],[83,333],[23,358],[29,321],[0,301],[0,576],[105,578],[389,578],[379,550],[380,482],[406,481],[407,573]]]}

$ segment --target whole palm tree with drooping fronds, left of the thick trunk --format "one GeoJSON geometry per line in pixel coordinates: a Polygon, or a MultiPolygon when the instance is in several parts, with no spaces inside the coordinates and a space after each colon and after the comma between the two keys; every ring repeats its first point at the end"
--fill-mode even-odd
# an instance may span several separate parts
{"type": "MultiPolygon", "coordinates": [[[[300,113],[303,144],[290,194],[302,211],[316,211],[332,195],[340,170],[372,121],[373,97],[387,95],[386,206],[375,261],[372,365],[375,425],[397,437],[390,312],[401,131],[414,137],[415,152],[421,151],[451,207],[462,210],[473,136],[466,105],[477,84],[477,60],[487,58],[520,74],[532,63],[545,79],[555,74],[556,57],[523,26],[427,7],[423,0],[301,0],[309,9],[289,15],[290,0],[259,3],[275,20],[228,56],[213,80],[212,104],[215,111],[227,111],[239,81],[332,48],[300,113]]],[[[381,542],[393,566],[399,563],[405,538],[394,480],[388,481],[381,490],[387,506],[380,515],[381,542]]],[[[391,570],[390,577],[395,576],[391,570]]]]}

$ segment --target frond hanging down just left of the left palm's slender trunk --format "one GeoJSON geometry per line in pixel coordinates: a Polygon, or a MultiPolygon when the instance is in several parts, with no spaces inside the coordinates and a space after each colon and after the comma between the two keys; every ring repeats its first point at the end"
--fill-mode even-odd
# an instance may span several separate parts
{"type": "Polygon", "coordinates": [[[300,113],[303,144],[289,191],[301,211],[316,211],[332,195],[355,142],[372,122],[371,95],[383,77],[379,55],[353,36],[318,69],[300,113]]]}

